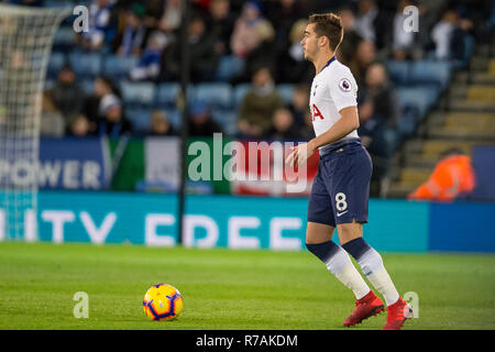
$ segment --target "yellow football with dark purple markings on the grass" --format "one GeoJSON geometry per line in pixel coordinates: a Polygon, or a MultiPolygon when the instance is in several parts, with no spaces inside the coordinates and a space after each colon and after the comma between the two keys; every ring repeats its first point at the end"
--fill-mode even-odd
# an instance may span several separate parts
{"type": "Polygon", "coordinates": [[[183,296],[177,288],[168,284],[153,285],[143,298],[144,314],[156,321],[176,319],[183,307],[183,296]]]}

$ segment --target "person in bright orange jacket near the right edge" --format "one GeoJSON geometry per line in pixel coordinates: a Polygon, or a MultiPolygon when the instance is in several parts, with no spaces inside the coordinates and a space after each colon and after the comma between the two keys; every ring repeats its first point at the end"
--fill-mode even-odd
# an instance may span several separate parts
{"type": "Polygon", "coordinates": [[[408,195],[409,200],[452,201],[468,196],[475,187],[471,157],[452,148],[441,155],[428,180],[408,195]]]}

